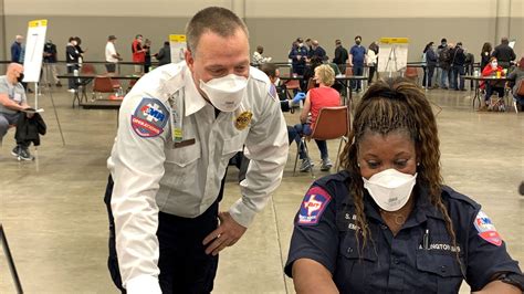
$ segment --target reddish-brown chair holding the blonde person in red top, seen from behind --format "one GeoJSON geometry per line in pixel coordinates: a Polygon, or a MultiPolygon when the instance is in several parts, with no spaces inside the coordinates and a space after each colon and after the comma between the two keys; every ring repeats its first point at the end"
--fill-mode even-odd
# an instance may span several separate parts
{"type": "MultiPolygon", "coordinates": [[[[304,145],[307,159],[310,159],[310,153],[307,149],[306,140],[318,139],[318,140],[331,140],[340,138],[340,144],[338,145],[338,151],[336,154],[336,164],[335,169],[338,164],[338,156],[340,155],[342,143],[347,141],[347,134],[349,133],[349,116],[347,106],[335,106],[335,107],[324,107],[321,108],[318,117],[316,118],[315,128],[313,129],[310,136],[303,136],[301,138],[301,144],[304,145]]],[[[296,164],[298,162],[298,151],[296,151],[295,157],[295,167],[293,168],[293,176],[296,172],[296,164]]],[[[311,159],[310,159],[311,161],[311,159]]],[[[311,176],[315,177],[313,174],[313,167],[311,167],[311,176]]]]}

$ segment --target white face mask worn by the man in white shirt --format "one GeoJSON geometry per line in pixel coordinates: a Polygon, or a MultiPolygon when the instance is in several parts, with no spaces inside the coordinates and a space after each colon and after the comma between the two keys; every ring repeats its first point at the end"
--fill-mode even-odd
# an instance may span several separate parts
{"type": "Polygon", "coordinates": [[[242,102],[248,78],[235,74],[210,80],[200,80],[200,88],[206,93],[217,109],[226,113],[234,112],[242,102]]]}

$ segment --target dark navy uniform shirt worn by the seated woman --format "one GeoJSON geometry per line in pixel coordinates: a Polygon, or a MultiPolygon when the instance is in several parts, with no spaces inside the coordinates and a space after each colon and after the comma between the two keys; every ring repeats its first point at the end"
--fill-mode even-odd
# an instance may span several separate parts
{"type": "Polygon", "coordinates": [[[347,178],[346,171],[322,178],[305,196],[285,265],[289,276],[294,261],[311,259],[332,273],[340,293],[458,293],[463,279],[478,291],[495,273],[521,273],[480,204],[448,187],[441,197],[453,222],[457,246],[442,213],[417,185],[413,211],[395,237],[366,191],[364,207],[371,240],[359,253],[347,178]]]}

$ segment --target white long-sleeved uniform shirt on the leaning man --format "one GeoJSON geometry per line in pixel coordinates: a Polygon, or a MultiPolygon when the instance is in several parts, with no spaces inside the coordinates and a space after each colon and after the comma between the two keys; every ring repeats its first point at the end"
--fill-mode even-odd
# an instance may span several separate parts
{"type": "Polygon", "coordinates": [[[242,197],[229,212],[249,227],[265,207],[281,182],[289,149],[285,120],[270,86],[268,76],[251,67],[239,111],[216,117],[182,61],[146,74],[126,95],[107,166],[115,181],[112,209],[118,263],[129,294],[160,293],[158,211],[185,218],[203,213],[217,200],[229,159],[244,145],[251,162],[240,183],[242,197]],[[178,148],[168,122],[169,97],[175,93],[184,95],[184,139],[195,139],[178,148]],[[244,129],[234,124],[240,112],[252,113],[244,129]],[[138,119],[144,128],[136,117],[144,118],[138,119]]]}

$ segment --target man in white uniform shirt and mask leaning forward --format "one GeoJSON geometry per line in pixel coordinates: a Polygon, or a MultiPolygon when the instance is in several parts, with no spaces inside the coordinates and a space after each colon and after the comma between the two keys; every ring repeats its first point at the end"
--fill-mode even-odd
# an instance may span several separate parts
{"type": "Polygon", "coordinates": [[[287,160],[279,98],[250,66],[244,22],[210,7],[186,36],[185,61],[153,70],[124,98],[107,160],[108,266],[129,294],[210,293],[219,252],[265,207],[287,160]],[[242,197],[219,212],[243,146],[242,197]]]}

